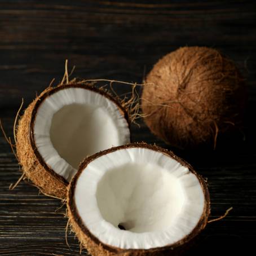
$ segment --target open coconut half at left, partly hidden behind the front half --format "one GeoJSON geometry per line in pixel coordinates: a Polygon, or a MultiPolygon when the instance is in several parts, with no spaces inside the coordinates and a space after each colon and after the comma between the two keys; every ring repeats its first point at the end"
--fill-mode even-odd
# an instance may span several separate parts
{"type": "Polygon", "coordinates": [[[48,88],[17,129],[23,171],[43,192],[65,198],[84,157],[130,142],[125,108],[104,90],[71,84],[48,88]]]}

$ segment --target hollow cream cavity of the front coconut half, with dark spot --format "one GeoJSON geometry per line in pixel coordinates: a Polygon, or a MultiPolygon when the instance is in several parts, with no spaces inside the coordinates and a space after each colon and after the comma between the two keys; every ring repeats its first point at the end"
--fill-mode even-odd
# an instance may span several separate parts
{"type": "MultiPolygon", "coordinates": [[[[138,153],[136,149],[129,152],[138,153]]],[[[125,149],[120,153],[125,154],[125,149]]],[[[163,231],[182,211],[184,187],[179,178],[157,164],[128,162],[106,171],[98,184],[96,200],[102,217],[116,228],[134,233],[163,231]]],[[[204,200],[199,211],[203,205],[204,200]]]]}

